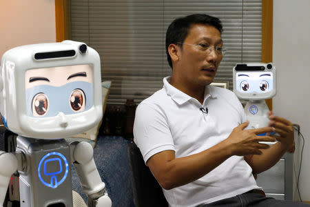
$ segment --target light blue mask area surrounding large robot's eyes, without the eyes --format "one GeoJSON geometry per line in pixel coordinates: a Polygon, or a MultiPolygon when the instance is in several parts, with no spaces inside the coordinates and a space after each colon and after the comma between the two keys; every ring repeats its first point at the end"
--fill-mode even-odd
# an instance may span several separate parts
{"type": "MultiPolygon", "coordinates": [[[[63,86],[40,85],[28,88],[25,91],[26,96],[26,113],[33,117],[32,99],[38,93],[43,93],[48,97],[48,112],[43,117],[54,117],[59,112],[65,115],[74,114],[70,106],[70,95],[73,90],[81,89],[85,94],[85,110],[89,110],[94,105],[94,88],[93,84],[85,81],[75,81],[63,86]]],[[[40,117],[38,117],[40,118],[40,117]]]]}

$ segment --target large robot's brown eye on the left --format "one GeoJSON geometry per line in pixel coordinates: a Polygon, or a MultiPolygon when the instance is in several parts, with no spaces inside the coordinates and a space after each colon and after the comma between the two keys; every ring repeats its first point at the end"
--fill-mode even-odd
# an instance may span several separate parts
{"type": "Polygon", "coordinates": [[[41,117],[46,112],[48,112],[48,97],[43,93],[38,93],[32,99],[32,113],[34,117],[41,117]]]}

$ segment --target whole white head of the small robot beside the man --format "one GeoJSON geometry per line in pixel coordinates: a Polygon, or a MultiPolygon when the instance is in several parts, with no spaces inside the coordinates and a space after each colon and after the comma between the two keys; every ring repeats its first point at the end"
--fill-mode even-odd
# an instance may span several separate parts
{"type": "Polygon", "coordinates": [[[234,92],[240,99],[270,99],[276,95],[276,68],[272,63],[245,63],[234,67],[234,92]]]}

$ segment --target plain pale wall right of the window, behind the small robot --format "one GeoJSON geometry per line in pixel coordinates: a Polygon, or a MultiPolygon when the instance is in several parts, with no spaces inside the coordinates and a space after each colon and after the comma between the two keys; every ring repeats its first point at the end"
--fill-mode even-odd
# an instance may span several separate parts
{"type": "Polygon", "coordinates": [[[278,72],[273,111],[299,124],[304,135],[300,193],[305,201],[310,201],[309,8],[309,0],[273,0],[273,63],[278,72]]]}

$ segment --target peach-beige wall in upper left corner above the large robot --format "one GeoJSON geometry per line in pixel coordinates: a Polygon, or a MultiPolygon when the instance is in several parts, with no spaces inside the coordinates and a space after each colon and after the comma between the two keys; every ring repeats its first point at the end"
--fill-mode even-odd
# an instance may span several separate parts
{"type": "Polygon", "coordinates": [[[15,46],[54,41],[54,0],[1,0],[0,57],[15,46]]]}

